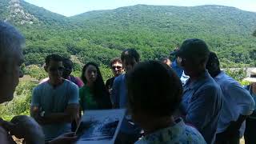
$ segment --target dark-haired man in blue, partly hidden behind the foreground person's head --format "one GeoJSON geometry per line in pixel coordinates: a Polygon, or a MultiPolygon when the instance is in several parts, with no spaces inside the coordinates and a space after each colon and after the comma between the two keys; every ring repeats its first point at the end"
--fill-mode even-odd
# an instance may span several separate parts
{"type": "MultiPolygon", "coordinates": [[[[139,54],[134,49],[126,49],[122,51],[121,60],[122,66],[126,71],[126,74],[128,74],[139,62],[139,54]]],[[[114,79],[112,98],[114,108],[127,108],[128,102],[125,74],[121,74],[114,79]]],[[[130,115],[126,115],[126,118],[124,118],[122,122],[120,134],[118,134],[116,143],[134,143],[138,140],[140,131],[141,129],[138,125],[135,125],[134,122],[131,121],[130,115]]]]}

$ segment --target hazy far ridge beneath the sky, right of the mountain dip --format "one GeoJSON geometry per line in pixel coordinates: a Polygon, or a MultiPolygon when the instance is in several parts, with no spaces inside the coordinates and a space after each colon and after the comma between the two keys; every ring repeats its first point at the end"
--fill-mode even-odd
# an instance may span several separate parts
{"type": "MultiPolygon", "coordinates": [[[[146,6],[92,11],[71,17],[77,22],[93,21],[121,26],[147,27],[153,30],[191,30],[214,34],[252,34],[256,13],[228,6],[146,6]]],[[[97,24],[97,23],[96,23],[97,24]]]]}

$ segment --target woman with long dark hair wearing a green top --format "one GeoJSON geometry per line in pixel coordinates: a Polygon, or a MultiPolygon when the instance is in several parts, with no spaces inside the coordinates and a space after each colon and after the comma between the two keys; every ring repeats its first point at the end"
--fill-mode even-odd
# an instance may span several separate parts
{"type": "Polygon", "coordinates": [[[88,62],[82,68],[84,86],[79,90],[82,110],[111,109],[110,96],[102,79],[98,65],[88,62]]]}

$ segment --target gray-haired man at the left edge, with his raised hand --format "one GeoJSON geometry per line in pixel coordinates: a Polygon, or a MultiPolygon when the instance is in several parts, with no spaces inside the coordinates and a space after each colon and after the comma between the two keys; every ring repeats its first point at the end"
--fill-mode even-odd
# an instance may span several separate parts
{"type": "MultiPolygon", "coordinates": [[[[25,39],[14,26],[0,21],[0,103],[14,98],[18,78],[23,76],[20,66],[23,62],[22,46],[24,44],[25,39]]],[[[42,128],[33,118],[25,115],[15,116],[10,122],[0,118],[0,143],[15,143],[11,135],[24,138],[26,143],[45,143],[42,128]]],[[[49,143],[64,143],[70,140],[74,140],[74,137],[64,134],[49,143]]]]}

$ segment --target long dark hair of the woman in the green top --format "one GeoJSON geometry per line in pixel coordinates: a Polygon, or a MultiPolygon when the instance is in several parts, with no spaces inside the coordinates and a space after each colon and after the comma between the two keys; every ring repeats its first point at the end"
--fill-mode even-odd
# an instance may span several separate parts
{"type": "Polygon", "coordinates": [[[86,80],[85,72],[86,72],[86,69],[88,68],[88,66],[90,66],[90,65],[95,66],[96,70],[97,70],[97,78],[96,78],[96,81],[94,82],[94,88],[92,90],[94,97],[99,98],[102,96],[106,96],[106,94],[107,94],[106,86],[103,82],[101,71],[99,70],[98,65],[96,63],[88,62],[88,63],[86,63],[85,66],[83,66],[82,76],[81,76],[82,82],[86,85],[87,80],[86,80]]]}

